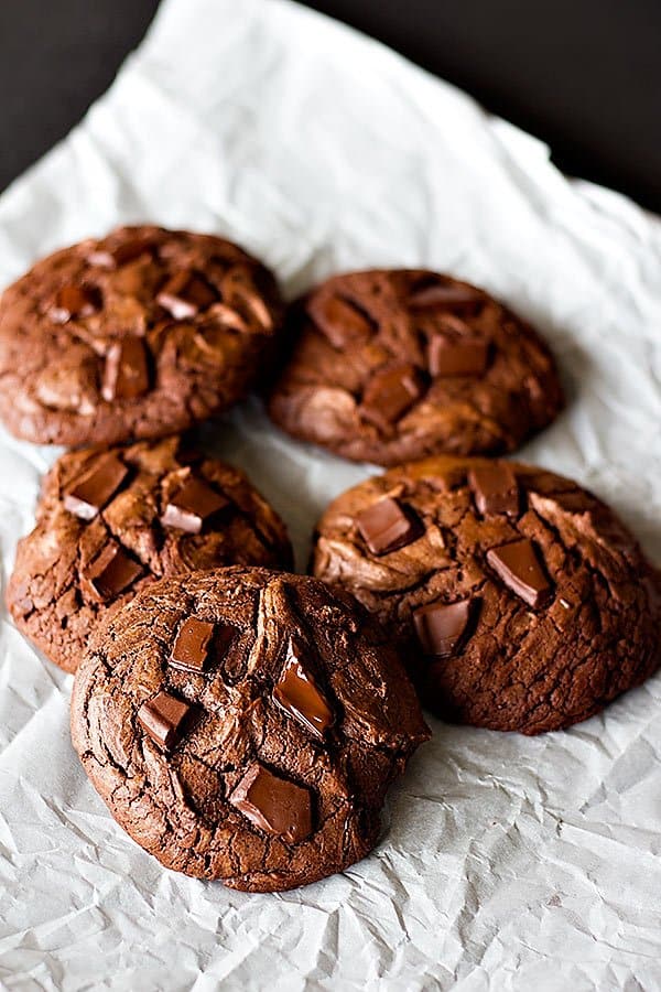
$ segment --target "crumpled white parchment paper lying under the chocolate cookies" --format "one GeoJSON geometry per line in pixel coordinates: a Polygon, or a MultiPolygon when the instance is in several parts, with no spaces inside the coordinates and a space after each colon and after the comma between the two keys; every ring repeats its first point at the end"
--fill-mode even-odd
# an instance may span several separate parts
{"type": "MultiPolygon", "coordinates": [[[[607,112],[607,108],[605,108],[607,112]]],[[[120,222],[215,230],[289,294],[426,265],[534,321],[570,406],[522,456],[611,502],[661,561],[661,224],[388,50],[284,0],[167,0],[85,121],[0,197],[0,284],[120,222]]],[[[207,428],[305,561],[362,478],[258,403],[207,428]]],[[[3,574],[53,450],[0,434],[3,574]]],[[[83,990],[661,988],[661,681],[527,740],[432,722],[378,850],[284,895],[164,871],[71,747],[71,680],[2,616],[0,982],[83,990]]]]}

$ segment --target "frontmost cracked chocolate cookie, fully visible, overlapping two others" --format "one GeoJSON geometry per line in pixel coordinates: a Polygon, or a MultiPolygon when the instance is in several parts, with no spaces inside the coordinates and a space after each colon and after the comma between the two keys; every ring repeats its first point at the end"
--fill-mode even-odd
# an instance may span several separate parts
{"type": "Polygon", "coordinates": [[[256,892],[364,858],[429,736],[398,655],[350,596],[238,567],[163,580],[109,618],[76,673],[72,734],[141,847],[256,892]]]}

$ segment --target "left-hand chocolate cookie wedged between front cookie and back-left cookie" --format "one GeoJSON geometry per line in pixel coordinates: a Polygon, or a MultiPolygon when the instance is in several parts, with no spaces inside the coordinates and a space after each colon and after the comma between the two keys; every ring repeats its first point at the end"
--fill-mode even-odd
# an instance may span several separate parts
{"type": "Polygon", "coordinates": [[[291,568],[286,530],[242,472],[180,438],[65,454],[19,542],[7,603],[74,671],[99,619],[154,579],[228,564],[291,568]]]}

